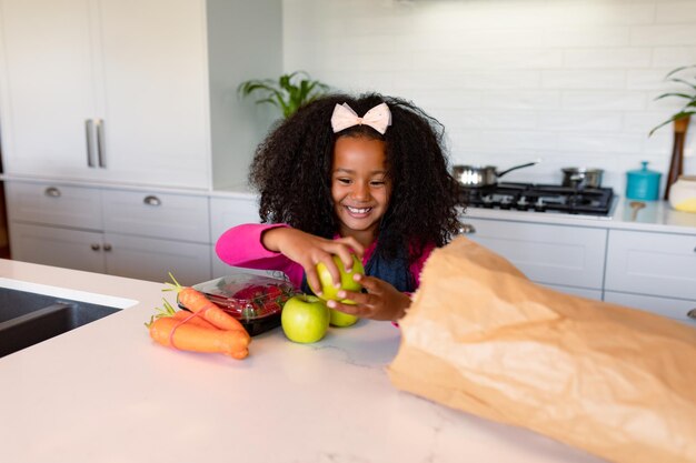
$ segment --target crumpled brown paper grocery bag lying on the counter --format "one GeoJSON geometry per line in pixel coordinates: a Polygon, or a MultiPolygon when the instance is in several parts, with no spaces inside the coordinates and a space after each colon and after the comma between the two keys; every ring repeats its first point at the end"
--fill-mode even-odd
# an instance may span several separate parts
{"type": "Polygon", "coordinates": [[[696,462],[696,329],[540,286],[464,236],[400,326],[404,391],[609,461],[696,462]]]}

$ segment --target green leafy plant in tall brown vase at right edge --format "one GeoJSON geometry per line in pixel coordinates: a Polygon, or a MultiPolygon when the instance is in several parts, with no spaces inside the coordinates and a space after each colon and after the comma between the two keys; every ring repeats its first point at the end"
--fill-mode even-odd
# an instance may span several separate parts
{"type": "Polygon", "coordinates": [[[672,117],[667,119],[666,121],[664,121],[663,123],[653,128],[653,130],[650,130],[650,133],[648,134],[649,137],[653,133],[655,133],[657,129],[664,125],[667,125],[668,123],[674,123],[674,144],[672,149],[672,159],[669,162],[669,173],[667,174],[667,181],[665,184],[665,197],[664,197],[665,200],[669,199],[669,190],[672,189],[672,185],[677,182],[677,180],[679,179],[679,177],[682,177],[682,173],[684,171],[684,140],[686,139],[686,130],[688,128],[688,123],[690,121],[692,114],[696,113],[696,76],[694,76],[693,79],[683,79],[683,78],[676,77],[676,74],[680,73],[682,71],[686,69],[692,69],[692,68],[696,68],[696,64],[683,66],[680,68],[677,68],[670,71],[665,77],[666,80],[670,82],[679,83],[682,85],[686,85],[687,89],[680,92],[675,91],[675,92],[663,93],[659,97],[657,97],[656,100],[660,100],[667,97],[673,97],[673,98],[684,99],[686,101],[684,105],[682,107],[682,109],[679,109],[679,111],[672,114],[672,117]]]}

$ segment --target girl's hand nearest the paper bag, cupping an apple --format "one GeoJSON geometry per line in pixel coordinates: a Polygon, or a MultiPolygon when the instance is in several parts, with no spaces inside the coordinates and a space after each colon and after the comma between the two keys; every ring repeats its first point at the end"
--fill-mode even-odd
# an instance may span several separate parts
{"type": "Polygon", "coordinates": [[[367,290],[367,293],[339,291],[339,298],[349,299],[356,305],[328,301],[327,305],[329,308],[357,315],[361,319],[390,320],[395,322],[406,314],[406,309],[411,304],[411,300],[407,294],[384,280],[360,274],[354,275],[352,279],[360,283],[367,290]]]}

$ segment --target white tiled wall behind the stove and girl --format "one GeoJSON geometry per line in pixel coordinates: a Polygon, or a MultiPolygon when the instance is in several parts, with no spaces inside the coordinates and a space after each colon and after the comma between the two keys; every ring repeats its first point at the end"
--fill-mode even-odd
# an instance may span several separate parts
{"type": "MultiPolygon", "coordinates": [[[[672,69],[696,64],[696,0],[284,0],[284,69],[412,100],[446,127],[453,163],[559,183],[561,167],[668,169],[680,107],[672,69]]],[[[690,76],[696,74],[696,70],[690,76]]],[[[696,174],[696,121],[686,173],[696,174]]]]}

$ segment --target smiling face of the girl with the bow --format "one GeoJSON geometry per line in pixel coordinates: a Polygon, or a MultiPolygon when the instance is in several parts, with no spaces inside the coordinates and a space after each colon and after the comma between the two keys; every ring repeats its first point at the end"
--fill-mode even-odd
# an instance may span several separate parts
{"type": "Polygon", "coordinates": [[[339,137],[334,147],[331,198],[340,235],[369,245],[377,236],[390,195],[385,142],[339,137]]]}

